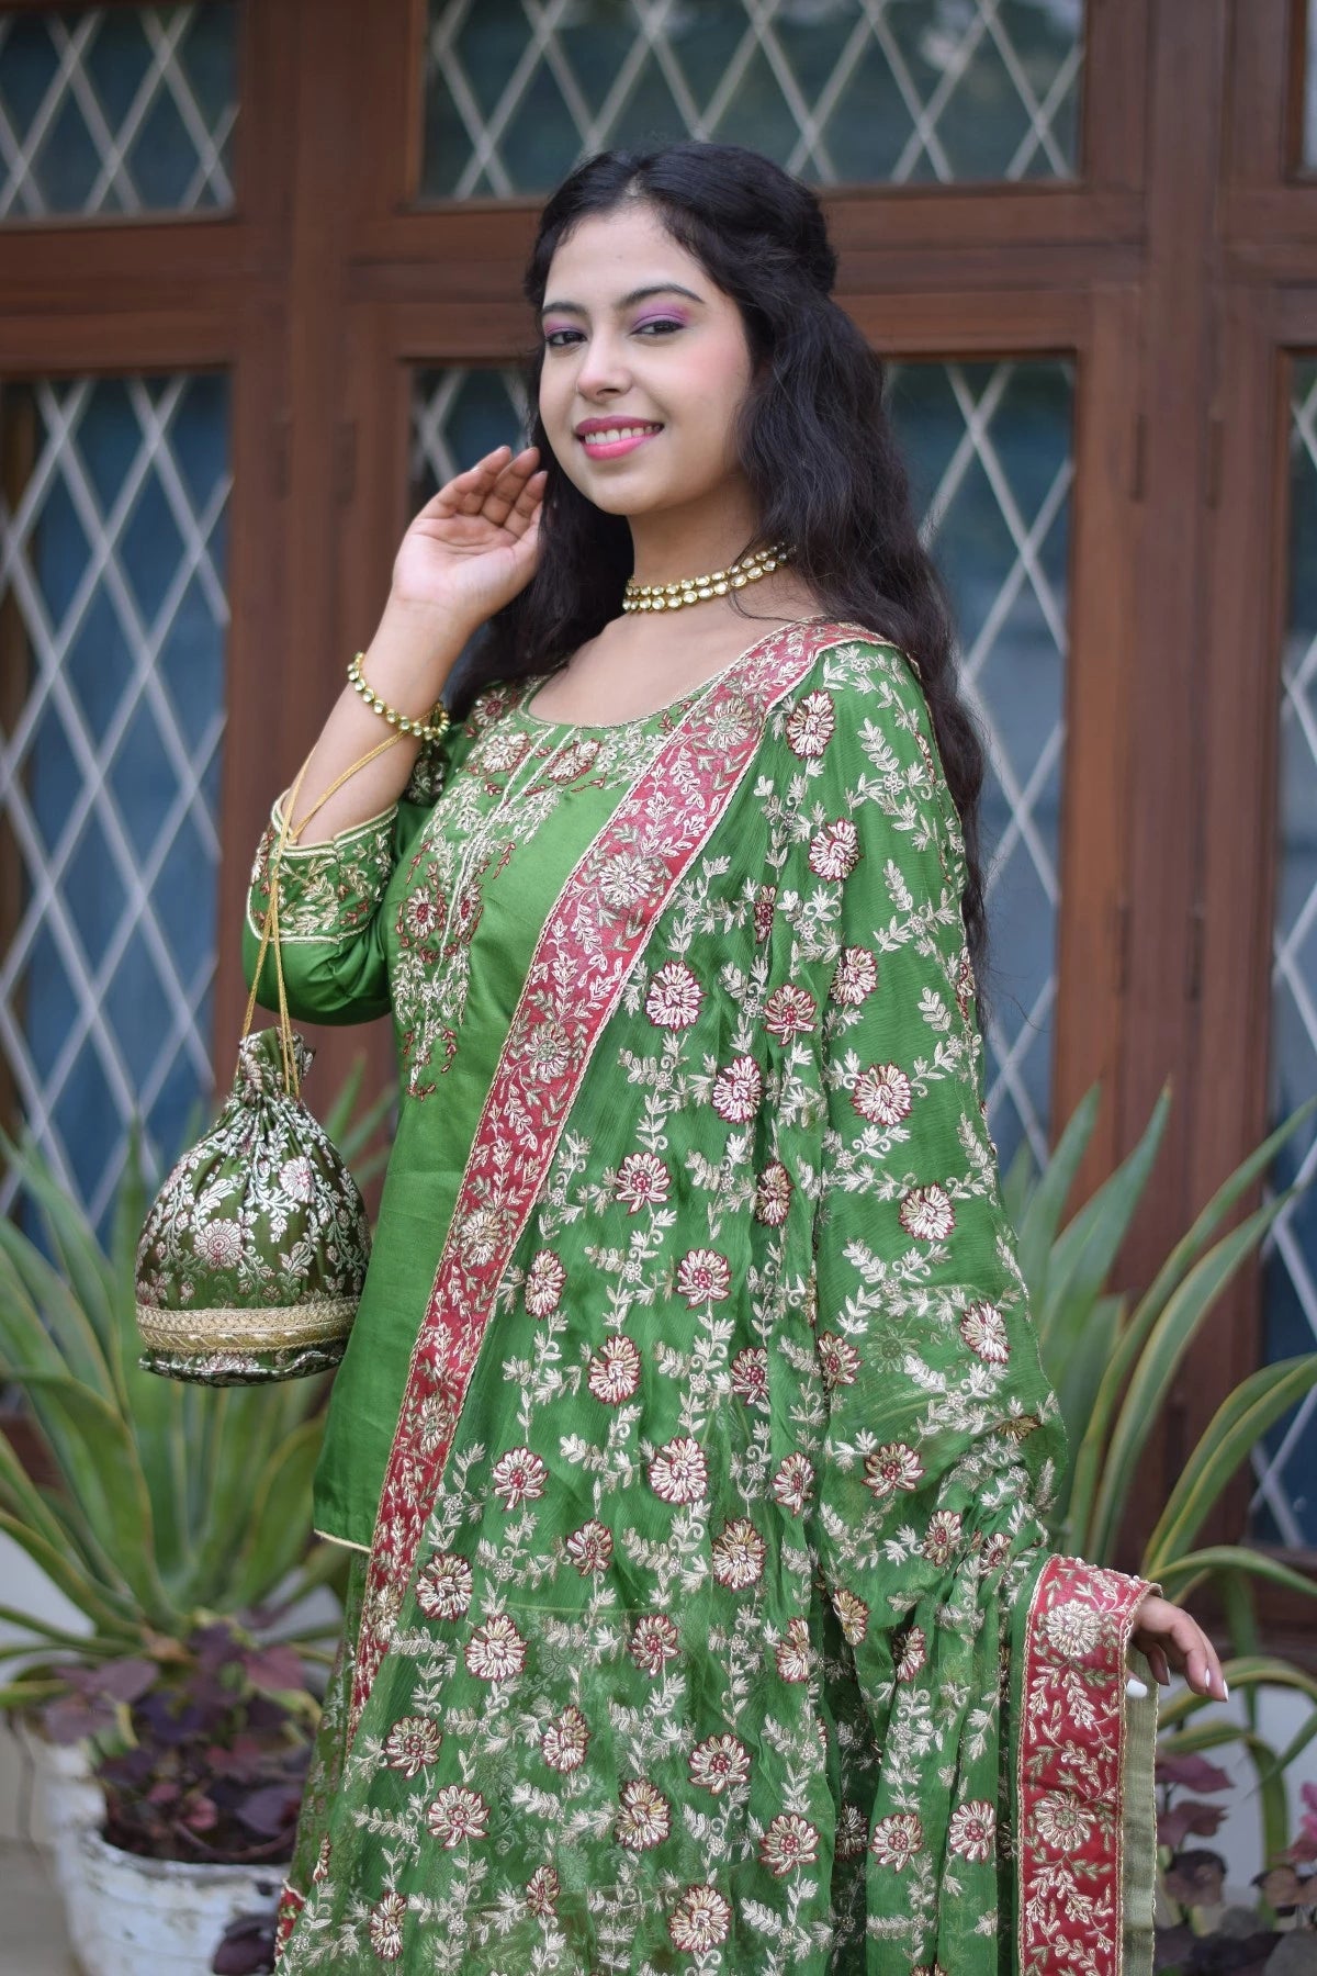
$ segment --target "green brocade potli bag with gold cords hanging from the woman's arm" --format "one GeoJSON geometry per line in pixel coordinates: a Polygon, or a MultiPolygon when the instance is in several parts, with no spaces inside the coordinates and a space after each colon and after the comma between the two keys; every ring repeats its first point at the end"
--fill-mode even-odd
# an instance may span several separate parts
{"type": "Polygon", "coordinates": [[[278,862],[320,804],[397,739],[391,735],[344,771],[290,832],[308,763],[292,784],[271,854],[269,911],[233,1091],[217,1124],[170,1172],[138,1241],[144,1371],[199,1385],[263,1385],[324,1371],[344,1356],[371,1231],[355,1180],[302,1103],[314,1051],[288,1020],[278,954],[278,862]],[[269,947],[278,1028],[253,1035],[269,947]]]}

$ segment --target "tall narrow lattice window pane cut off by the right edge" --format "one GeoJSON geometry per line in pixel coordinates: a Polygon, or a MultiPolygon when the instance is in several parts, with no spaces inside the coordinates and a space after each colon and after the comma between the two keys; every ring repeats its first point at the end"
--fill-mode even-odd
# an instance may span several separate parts
{"type": "MultiPolygon", "coordinates": [[[[1279,842],[1272,954],[1270,1120],[1317,1089],[1317,358],[1289,399],[1289,611],[1281,658],[1279,842]]],[[[1274,1192],[1317,1176],[1317,1124],[1281,1148],[1274,1192]]],[[[1317,1348],[1317,1192],[1278,1215],[1264,1257],[1264,1359],[1317,1348]]],[[[1254,1448],[1252,1535],[1317,1545],[1317,1391],[1254,1448]]]]}

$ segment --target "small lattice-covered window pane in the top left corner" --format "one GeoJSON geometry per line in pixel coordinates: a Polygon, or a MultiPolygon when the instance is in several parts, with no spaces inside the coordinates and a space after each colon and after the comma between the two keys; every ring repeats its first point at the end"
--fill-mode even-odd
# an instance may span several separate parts
{"type": "Polygon", "coordinates": [[[233,206],[237,6],[0,12],[0,219],[233,206]]]}

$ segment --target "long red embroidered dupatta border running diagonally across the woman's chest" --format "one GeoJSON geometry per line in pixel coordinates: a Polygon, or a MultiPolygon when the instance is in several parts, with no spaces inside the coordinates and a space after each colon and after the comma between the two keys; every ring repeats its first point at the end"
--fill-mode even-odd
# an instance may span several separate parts
{"type": "Polygon", "coordinates": [[[742,652],[626,792],[545,921],[413,1350],[371,1539],[349,1739],[397,1622],[498,1286],[594,1043],[673,887],[723,816],[768,711],[819,652],[851,638],[873,632],[835,622],[788,626],[742,652]],[[476,1211],[482,1219],[464,1253],[476,1211]]]}

